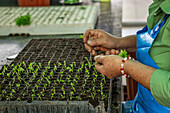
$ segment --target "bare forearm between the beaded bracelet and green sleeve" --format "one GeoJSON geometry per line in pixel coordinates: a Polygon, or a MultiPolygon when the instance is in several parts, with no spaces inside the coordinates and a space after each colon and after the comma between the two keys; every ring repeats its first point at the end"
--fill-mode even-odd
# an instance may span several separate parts
{"type": "Polygon", "coordinates": [[[124,68],[125,73],[130,75],[134,80],[150,90],[150,79],[152,73],[156,70],[155,68],[132,60],[127,60],[125,62],[124,68]]]}

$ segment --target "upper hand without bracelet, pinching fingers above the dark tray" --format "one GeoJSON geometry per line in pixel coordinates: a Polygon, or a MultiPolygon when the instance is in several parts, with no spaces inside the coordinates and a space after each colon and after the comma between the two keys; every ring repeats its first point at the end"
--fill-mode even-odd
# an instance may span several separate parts
{"type": "Polygon", "coordinates": [[[103,30],[87,30],[83,35],[83,41],[85,48],[92,55],[96,55],[96,50],[110,51],[112,48],[116,48],[118,44],[118,38],[106,33],[103,30]],[[89,39],[91,36],[91,39],[89,39]]]}

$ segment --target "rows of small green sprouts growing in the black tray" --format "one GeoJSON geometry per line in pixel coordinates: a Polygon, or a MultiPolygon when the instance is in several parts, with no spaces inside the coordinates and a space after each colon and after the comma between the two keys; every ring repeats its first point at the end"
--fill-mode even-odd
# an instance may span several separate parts
{"type": "Polygon", "coordinates": [[[50,100],[54,100],[56,97],[82,100],[82,96],[86,95],[93,100],[96,96],[101,96],[101,100],[105,100],[108,96],[103,90],[107,82],[105,76],[94,68],[94,63],[91,63],[87,57],[80,64],[76,64],[76,62],[68,64],[66,61],[55,64],[49,61],[46,66],[41,63],[24,61],[16,65],[11,64],[3,67],[0,79],[2,80],[0,100],[5,98],[10,101],[16,98],[16,100],[22,101],[26,95],[29,95],[32,100],[37,100],[37,98],[43,100],[46,93],[49,94],[50,100]],[[7,86],[7,90],[2,89],[3,86],[7,86]],[[20,92],[21,89],[23,90],[20,92]],[[82,90],[80,91],[80,89],[82,90]],[[77,95],[78,90],[79,95],[77,95]],[[20,97],[15,97],[18,92],[20,97]]]}

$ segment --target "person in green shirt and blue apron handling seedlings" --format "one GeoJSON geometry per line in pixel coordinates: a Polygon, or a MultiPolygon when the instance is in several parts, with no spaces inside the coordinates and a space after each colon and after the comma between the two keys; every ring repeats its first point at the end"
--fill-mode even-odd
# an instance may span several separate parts
{"type": "Polygon", "coordinates": [[[100,73],[110,79],[126,73],[138,82],[133,113],[170,113],[169,14],[170,0],[154,0],[149,7],[147,26],[136,35],[120,38],[102,30],[84,33],[85,48],[90,53],[95,55],[96,50],[101,50],[115,54],[95,56],[95,68],[100,73]],[[136,50],[137,60],[118,56],[119,49],[136,50]]]}

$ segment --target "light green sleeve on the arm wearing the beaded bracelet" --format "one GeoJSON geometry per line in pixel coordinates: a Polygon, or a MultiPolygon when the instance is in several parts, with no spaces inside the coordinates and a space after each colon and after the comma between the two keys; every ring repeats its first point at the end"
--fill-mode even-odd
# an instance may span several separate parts
{"type": "Polygon", "coordinates": [[[151,76],[150,90],[159,104],[170,107],[170,71],[155,70],[151,76]]]}

